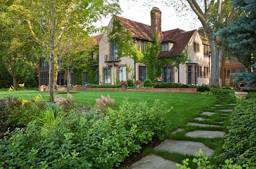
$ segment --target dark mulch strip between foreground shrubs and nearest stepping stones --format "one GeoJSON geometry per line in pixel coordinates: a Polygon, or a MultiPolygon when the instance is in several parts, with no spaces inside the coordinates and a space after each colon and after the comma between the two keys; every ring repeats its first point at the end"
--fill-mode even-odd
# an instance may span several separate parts
{"type": "Polygon", "coordinates": [[[120,166],[116,167],[114,166],[113,169],[122,169],[123,168],[128,168],[129,166],[131,166],[133,163],[135,163],[136,161],[139,161],[140,159],[142,159],[143,156],[143,152],[146,148],[154,148],[156,146],[158,146],[162,141],[160,141],[158,138],[153,138],[151,143],[148,144],[143,144],[140,149],[140,153],[136,152],[136,153],[132,153],[129,157],[127,157],[125,159],[125,161],[123,161],[122,163],[120,163],[120,166]]]}

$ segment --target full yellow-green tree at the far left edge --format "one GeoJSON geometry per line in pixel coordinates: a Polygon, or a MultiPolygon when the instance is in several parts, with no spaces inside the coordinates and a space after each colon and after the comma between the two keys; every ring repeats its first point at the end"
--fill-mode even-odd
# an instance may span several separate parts
{"type": "Polygon", "coordinates": [[[10,10],[13,3],[14,0],[9,0],[0,4],[0,59],[12,76],[13,87],[17,89],[19,79],[27,80],[24,75],[33,76],[30,71],[37,63],[35,51],[40,50],[27,35],[26,24],[10,10]]]}

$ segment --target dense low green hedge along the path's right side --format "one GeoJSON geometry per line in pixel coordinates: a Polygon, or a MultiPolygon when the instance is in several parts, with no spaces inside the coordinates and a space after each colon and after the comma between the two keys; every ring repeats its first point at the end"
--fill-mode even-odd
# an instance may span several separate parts
{"type": "Polygon", "coordinates": [[[239,165],[256,166],[256,98],[238,99],[225,138],[222,161],[232,158],[239,165]]]}

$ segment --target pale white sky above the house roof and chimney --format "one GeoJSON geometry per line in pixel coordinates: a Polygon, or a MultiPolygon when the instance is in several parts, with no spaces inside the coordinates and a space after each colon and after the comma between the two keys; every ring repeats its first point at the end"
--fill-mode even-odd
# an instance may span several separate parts
{"type": "MultiPolygon", "coordinates": [[[[192,29],[202,27],[199,20],[196,22],[192,20],[189,22],[186,20],[186,18],[191,18],[193,13],[186,14],[186,17],[177,17],[175,14],[175,9],[173,7],[166,6],[163,3],[154,3],[150,6],[145,6],[144,0],[138,0],[136,3],[131,0],[120,0],[119,2],[123,11],[121,17],[147,25],[151,25],[150,11],[152,7],[158,7],[160,11],[162,11],[162,31],[168,31],[175,28],[190,31],[192,29]]],[[[110,20],[111,17],[105,18],[102,21],[98,21],[96,26],[107,26],[110,20]]]]}

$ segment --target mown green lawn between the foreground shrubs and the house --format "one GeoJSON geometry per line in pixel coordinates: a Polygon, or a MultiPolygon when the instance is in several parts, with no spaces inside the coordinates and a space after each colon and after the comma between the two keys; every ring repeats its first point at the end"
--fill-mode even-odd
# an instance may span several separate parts
{"type": "MultiPolygon", "coordinates": [[[[57,93],[63,91],[56,91],[57,93]]],[[[184,126],[189,120],[201,113],[203,110],[206,110],[215,103],[215,96],[205,96],[198,93],[167,93],[167,92],[132,92],[132,91],[98,91],[98,90],[77,90],[73,92],[72,96],[77,106],[85,104],[88,107],[93,107],[95,104],[95,99],[100,98],[101,95],[107,96],[110,95],[116,101],[118,106],[125,98],[128,98],[128,101],[138,102],[138,101],[147,101],[149,105],[152,105],[155,99],[160,101],[166,101],[167,107],[173,107],[171,113],[166,116],[168,121],[168,132],[184,126]]],[[[0,90],[0,98],[6,96],[15,96],[20,99],[30,99],[34,96],[41,94],[45,99],[49,99],[49,92],[39,92],[36,90],[28,91],[11,91],[0,90]]],[[[66,97],[66,94],[61,96],[66,97]]]]}

